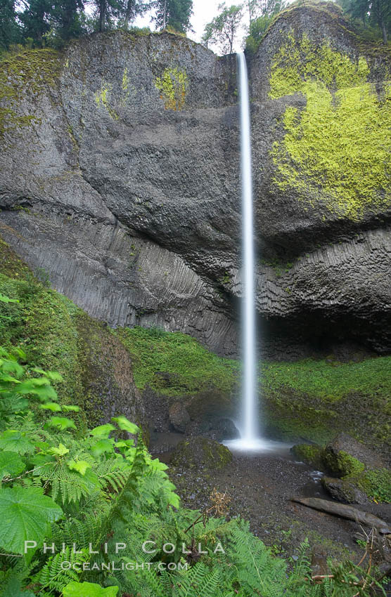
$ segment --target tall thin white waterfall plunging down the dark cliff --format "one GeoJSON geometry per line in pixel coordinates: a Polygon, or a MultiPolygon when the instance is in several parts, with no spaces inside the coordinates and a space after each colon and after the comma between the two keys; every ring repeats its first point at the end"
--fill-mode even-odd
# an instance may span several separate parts
{"type": "Polygon", "coordinates": [[[250,101],[245,55],[238,53],[239,100],[241,107],[241,189],[242,189],[242,261],[243,300],[241,314],[243,346],[243,442],[257,439],[257,349],[254,288],[254,227],[252,218],[252,172],[250,101]]]}

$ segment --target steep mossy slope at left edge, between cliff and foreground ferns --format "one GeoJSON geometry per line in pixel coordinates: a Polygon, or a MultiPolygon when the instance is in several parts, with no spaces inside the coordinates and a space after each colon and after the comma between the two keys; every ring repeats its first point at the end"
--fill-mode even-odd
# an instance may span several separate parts
{"type": "Polygon", "coordinates": [[[51,290],[44,270],[33,275],[2,240],[0,294],[19,301],[0,303],[1,346],[22,348],[31,365],[59,372],[59,398],[82,407],[85,424],[116,413],[145,424],[132,361],[117,336],[51,290]]]}

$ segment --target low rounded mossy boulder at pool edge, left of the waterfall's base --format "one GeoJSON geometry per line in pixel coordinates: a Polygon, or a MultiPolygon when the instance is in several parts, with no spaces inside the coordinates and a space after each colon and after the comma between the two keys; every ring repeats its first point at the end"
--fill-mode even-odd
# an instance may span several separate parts
{"type": "Polygon", "coordinates": [[[232,460],[229,449],[207,438],[191,438],[179,442],[172,453],[172,466],[184,468],[224,468],[232,460]]]}

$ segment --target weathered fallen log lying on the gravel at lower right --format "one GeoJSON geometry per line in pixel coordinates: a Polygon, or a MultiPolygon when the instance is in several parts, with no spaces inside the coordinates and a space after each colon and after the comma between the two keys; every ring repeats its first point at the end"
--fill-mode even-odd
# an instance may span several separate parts
{"type": "Polygon", "coordinates": [[[295,501],[297,504],[308,506],[314,510],[320,510],[328,514],[340,516],[340,518],[347,518],[354,520],[361,525],[368,527],[375,527],[382,534],[391,534],[391,527],[384,520],[373,516],[369,512],[357,510],[353,506],[347,504],[338,504],[335,501],[328,501],[327,499],[319,499],[318,497],[291,497],[290,501],[295,501]]]}

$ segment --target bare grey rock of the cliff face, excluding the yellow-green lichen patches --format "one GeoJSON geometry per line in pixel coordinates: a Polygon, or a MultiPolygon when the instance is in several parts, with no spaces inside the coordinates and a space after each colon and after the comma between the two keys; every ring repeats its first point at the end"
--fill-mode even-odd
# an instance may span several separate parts
{"type": "MultiPolygon", "coordinates": [[[[296,30],[316,39],[312,11],[301,11],[296,30]]],[[[323,37],[354,51],[351,37],[327,19],[323,37]]],[[[390,348],[388,214],[341,222],[271,190],[276,123],[286,105],[305,102],[267,99],[278,27],[250,69],[254,163],[262,164],[254,169],[262,348],[294,358],[307,355],[314,339],[353,338],[383,352],[390,348]]],[[[72,43],[61,64],[56,88],[35,98],[27,87],[17,107],[34,111],[40,124],[2,141],[1,235],[90,315],[113,326],[181,330],[236,355],[235,57],[217,58],[170,34],[114,32],[72,43]],[[170,72],[171,80],[182,76],[177,110],[159,82],[170,72]]]]}

